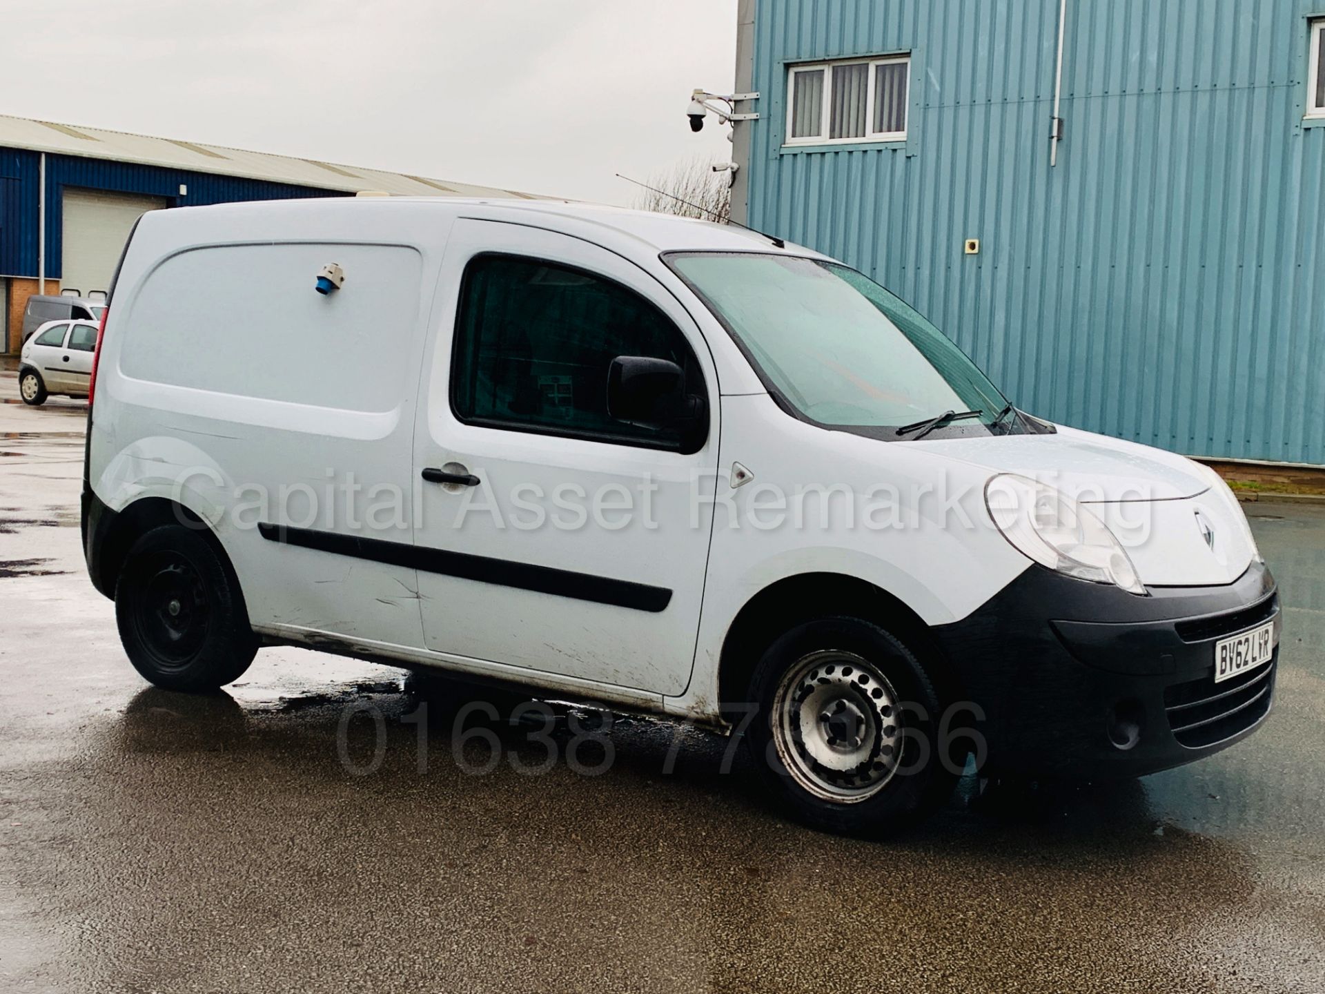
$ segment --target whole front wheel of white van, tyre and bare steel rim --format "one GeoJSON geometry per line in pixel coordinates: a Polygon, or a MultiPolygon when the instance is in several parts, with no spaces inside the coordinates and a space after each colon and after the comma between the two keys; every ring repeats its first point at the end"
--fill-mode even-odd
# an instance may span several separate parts
{"type": "Polygon", "coordinates": [[[876,624],[824,618],[765,652],[751,680],[747,744],[774,793],[829,832],[880,835],[941,804],[942,705],[917,655],[876,624]]]}

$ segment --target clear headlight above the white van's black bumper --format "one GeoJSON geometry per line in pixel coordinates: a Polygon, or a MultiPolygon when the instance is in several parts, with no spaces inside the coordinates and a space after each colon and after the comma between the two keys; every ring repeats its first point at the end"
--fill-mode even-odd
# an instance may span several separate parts
{"type": "Polygon", "coordinates": [[[1122,545],[1100,518],[1052,486],[1000,473],[984,485],[990,517],[1012,547],[1056,573],[1146,592],[1122,545]]]}

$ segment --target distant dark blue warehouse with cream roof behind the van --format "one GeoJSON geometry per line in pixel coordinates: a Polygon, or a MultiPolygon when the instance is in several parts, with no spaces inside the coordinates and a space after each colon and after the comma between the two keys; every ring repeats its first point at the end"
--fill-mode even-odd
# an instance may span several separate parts
{"type": "MultiPolygon", "coordinates": [[[[29,297],[105,292],[134,220],[174,207],[360,191],[517,196],[398,172],[0,115],[0,351],[29,297]]],[[[34,307],[32,321],[41,319],[34,307]]]]}

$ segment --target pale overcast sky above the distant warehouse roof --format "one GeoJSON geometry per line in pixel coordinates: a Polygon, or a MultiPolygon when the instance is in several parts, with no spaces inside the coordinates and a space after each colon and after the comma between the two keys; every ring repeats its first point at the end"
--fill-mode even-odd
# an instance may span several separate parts
{"type": "Polygon", "coordinates": [[[0,113],[608,203],[692,155],[735,0],[4,4],[0,113]]]}

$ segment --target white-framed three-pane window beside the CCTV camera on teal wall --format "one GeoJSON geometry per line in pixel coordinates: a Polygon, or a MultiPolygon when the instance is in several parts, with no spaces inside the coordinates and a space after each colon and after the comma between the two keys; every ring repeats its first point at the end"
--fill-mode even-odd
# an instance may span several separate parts
{"type": "Polygon", "coordinates": [[[909,76],[908,56],[791,66],[786,144],[905,139],[909,76]]]}

